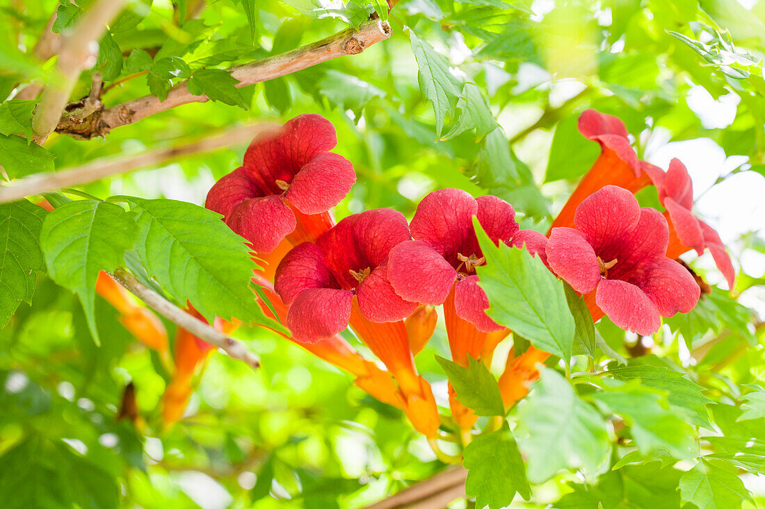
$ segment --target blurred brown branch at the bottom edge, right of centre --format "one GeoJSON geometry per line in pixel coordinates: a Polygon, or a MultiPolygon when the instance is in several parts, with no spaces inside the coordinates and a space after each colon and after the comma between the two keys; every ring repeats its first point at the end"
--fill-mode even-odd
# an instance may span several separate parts
{"type": "Polygon", "coordinates": [[[397,507],[440,508],[465,496],[467,470],[461,466],[447,468],[433,477],[399,491],[392,497],[372,504],[366,509],[396,509],[397,507]]]}

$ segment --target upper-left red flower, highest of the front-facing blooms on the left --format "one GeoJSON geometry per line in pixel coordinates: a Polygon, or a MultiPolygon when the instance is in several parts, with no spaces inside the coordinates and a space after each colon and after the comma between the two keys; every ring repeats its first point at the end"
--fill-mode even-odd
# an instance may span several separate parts
{"type": "Polygon", "coordinates": [[[334,220],[327,212],[356,182],[350,161],[330,152],[334,126],[321,115],[293,118],[278,134],[252,141],[242,167],[218,180],[205,206],[223,215],[257,253],[315,240],[334,220]]]}

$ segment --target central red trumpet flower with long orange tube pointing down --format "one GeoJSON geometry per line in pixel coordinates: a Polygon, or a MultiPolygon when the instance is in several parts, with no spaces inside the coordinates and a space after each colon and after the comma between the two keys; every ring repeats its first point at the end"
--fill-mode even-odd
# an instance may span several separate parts
{"type": "Polygon", "coordinates": [[[409,239],[401,212],[374,209],[341,220],[290,251],[276,269],[275,290],[289,306],[295,341],[318,342],[349,323],[399,386],[401,407],[415,429],[434,436],[440,420],[431,387],[417,374],[405,323],[418,303],[396,295],[388,254],[409,239]]]}

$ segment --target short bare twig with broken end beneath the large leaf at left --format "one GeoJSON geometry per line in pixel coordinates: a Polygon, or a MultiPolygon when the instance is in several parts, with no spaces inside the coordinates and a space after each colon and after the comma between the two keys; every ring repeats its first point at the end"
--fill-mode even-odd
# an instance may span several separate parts
{"type": "Polygon", "coordinates": [[[176,323],[177,326],[183,327],[188,332],[194,334],[194,336],[223,350],[230,358],[243,361],[253,369],[260,367],[258,357],[250,352],[242,342],[233,339],[231,336],[226,336],[223,332],[216,331],[207,325],[207,323],[181,310],[180,307],[161,297],[159,293],[138,282],[133,274],[125,271],[122,267],[117,267],[112,276],[119,284],[130,290],[135,297],[143,300],[152,310],[155,310],[171,322],[176,323]]]}

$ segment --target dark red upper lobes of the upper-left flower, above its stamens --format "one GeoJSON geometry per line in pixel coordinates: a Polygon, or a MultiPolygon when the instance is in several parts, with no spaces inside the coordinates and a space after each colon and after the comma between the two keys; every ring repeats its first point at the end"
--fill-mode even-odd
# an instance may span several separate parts
{"type": "Polygon", "coordinates": [[[334,126],[326,118],[300,115],[282,126],[278,135],[255,138],[244,154],[244,167],[262,194],[282,194],[275,180],[290,183],[301,167],[336,144],[334,126]]]}

